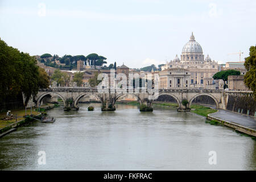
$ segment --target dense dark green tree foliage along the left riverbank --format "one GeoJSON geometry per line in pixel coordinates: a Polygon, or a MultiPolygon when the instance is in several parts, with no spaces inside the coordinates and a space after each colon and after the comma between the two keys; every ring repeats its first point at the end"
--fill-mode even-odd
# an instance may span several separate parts
{"type": "Polygon", "coordinates": [[[35,98],[39,89],[39,67],[35,57],[7,46],[0,39],[0,65],[1,104],[9,102],[11,98],[15,100],[23,92],[26,96],[24,103],[27,105],[30,96],[35,98]]]}

